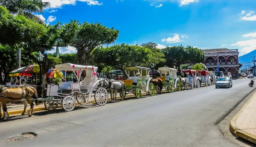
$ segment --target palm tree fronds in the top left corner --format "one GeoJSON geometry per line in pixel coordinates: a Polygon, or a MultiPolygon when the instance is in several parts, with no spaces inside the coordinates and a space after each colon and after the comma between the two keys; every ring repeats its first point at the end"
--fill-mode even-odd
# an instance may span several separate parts
{"type": "Polygon", "coordinates": [[[44,9],[51,6],[49,2],[42,2],[42,0],[0,0],[0,5],[6,7],[13,15],[19,14],[41,24],[44,24],[44,20],[34,13],[44,13],[44,9]]]}

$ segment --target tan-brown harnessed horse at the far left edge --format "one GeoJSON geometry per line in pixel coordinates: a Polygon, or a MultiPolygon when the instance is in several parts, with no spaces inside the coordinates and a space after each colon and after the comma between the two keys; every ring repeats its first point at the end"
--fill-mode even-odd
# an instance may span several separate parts
{"type": "MultiPolygon", "coordinates": [[[[0,103],[3,105],[3,120],[7,120],[9,117],[6,102],[16,102],[21,101],[23,98],[30,104],[29,117],[33,114],[34,104],[32,98],[38,98],[37,91],[32,86],[20,86],[20,87],[11,87],[5,88],[0,93],[0,103]]],[[[38,105],[38,100],[35,101],[35,104],[38,105]]],[[[26,106],[25,106],[26,107],[26,106]]]]}

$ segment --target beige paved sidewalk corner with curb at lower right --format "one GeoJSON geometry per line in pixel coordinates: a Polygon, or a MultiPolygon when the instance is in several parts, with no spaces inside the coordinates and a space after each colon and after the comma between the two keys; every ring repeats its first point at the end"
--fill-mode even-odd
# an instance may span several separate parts
{"type": "Polygon", "coordinates": [[[256,144],[256,93],[230,121],[230,132],[256,144]]]}

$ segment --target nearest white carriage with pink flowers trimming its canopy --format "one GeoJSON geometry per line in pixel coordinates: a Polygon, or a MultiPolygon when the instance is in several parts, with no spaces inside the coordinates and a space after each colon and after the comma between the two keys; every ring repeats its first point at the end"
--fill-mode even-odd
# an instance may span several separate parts
{"type": "Polygon", "coordinates": [[[108,102],[108,91],[104,87],[98,87],[99,81],[96,76],[97,67],[82,66],[71,63],[55,65],[55,69],[72,71],[77,79],[77,83],[66,81],[66,77],[62,77],[64,82],[58,85],[50,84],[47,86],[47,96],[44,106],[47,110],[55,110],[58,104],[66,111],[72,111],[76,106],[76,101],[79,104],[87,104],[94,96],[95,102],[103,106],[108,102]],[[83,81],[80,81],[81,75],[86,72],[83,81]]]}

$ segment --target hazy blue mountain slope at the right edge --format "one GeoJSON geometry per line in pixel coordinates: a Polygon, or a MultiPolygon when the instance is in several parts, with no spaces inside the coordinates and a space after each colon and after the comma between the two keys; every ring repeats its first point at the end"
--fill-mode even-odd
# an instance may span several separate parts
{"type": "MultiPolygon", "coordinates": [[[[246,65],[251,64],[251,67],[253,66],[253,56],[256,56],[256,50],[253,50],[252,52],[249,52],[248,54],[242,55],[238,58],[239,63],[243,64],[240,70],[245,69],[246,65]]],[[[255,57],[255,60],[256,60],[256,57],[255,57]]]]}

